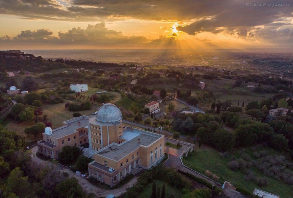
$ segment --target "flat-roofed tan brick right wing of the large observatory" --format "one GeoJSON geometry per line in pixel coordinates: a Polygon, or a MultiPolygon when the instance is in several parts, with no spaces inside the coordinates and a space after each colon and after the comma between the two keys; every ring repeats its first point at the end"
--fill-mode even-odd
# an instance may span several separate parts
{"type": "Polygon", "coordinates": [[[125,126],[125,134],[133,132],[137,136],[132,139],[112,143],[94,153],[94,161],[88,164],[90,177],[113,187],[127,174],[136,174],[161,162],[164,136],[125,126]]]}

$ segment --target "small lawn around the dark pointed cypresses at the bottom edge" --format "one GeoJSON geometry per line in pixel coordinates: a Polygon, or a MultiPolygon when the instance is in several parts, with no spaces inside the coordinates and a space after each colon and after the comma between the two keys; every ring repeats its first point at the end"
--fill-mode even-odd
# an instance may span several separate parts
{"type": "MultiPolygon", "coordinates": [[[[173,195],[174,197],[181,197],[182,193],[179,189],[175,188],[175,187],[171,187],[170,185],[168,185],[168,183],[163,182],[161,180],[156,180],[156,187],[160,187],[160,192],[162,192],[162,187],[163,187],[163,183],[165,183],[165,192],[166,192],[166,197],[169,197],[171,195],[173,195]]],[[[153,183],[149,183],[145,188],[144,191],[142,191],[142,193],[138,196],[138,198],[149,198],[151,197],[151,189],[152,189],[152,185],[153,183]]]]}

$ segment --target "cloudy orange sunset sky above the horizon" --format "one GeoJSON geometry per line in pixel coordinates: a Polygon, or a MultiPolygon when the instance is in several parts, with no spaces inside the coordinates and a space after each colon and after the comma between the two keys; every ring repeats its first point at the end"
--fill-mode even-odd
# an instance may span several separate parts
{"type": "Polygon", "coordinates": [[[0,49],[290,47],[291,8],[241,0],[0,1],[0,49]]]}

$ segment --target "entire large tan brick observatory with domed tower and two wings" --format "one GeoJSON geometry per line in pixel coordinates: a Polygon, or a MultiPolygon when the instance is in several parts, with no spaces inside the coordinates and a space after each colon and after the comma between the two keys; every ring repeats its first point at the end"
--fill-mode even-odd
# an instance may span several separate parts
{"type": "Polygon", "coordinates": [[[57,158],[63,146],[88,142],[89,177],[111,187],[127,174],[157,165],[164,158],[164,135],[123,126],[122,113],[114,104],[103,104],[96,116],[80,116],[52,130],[46,128],[38,152],[57,158]]]}

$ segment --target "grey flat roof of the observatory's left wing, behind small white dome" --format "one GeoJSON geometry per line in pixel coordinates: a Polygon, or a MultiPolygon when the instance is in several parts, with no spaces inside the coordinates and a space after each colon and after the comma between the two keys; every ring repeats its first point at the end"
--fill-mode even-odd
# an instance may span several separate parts
{"type": "Polygon", "coordinates": [[[66,124],[62,127],[56,128],[52,130],[51,137],[55,137],[57,139],[62,138],[64,136],[67,136],[71,133],[74,133],[74,130],[81,127],[88,127],[88,118],[89,116],[80,116],[77,118],[73,118],[67,121],[64,121],[63,123],[66,124]],[[80,124],[79,124],[80,123],[80,124]]]}

